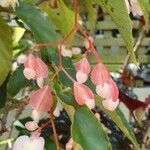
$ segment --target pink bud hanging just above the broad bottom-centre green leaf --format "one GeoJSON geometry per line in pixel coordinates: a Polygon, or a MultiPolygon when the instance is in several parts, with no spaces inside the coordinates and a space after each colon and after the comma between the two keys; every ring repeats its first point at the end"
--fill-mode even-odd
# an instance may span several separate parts
{"type": "Polygon", "coordinates": [[[94,108],[94,94],[84,84],[79,84],[78,82],[74,82],[73,85],[75,100],[79,105],[86,104],[90,109],[94,108]]]}

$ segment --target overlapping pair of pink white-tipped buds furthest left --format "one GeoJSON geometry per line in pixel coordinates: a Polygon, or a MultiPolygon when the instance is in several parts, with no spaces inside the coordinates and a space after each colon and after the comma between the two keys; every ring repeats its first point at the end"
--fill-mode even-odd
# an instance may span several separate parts
{"type": "Polygon", "coordinates": [[[30,80],[37,80],[37,84],[40,88],[43,87],[43,78],[48,76],[48,67],[38,57],[34,57],[29,54],[28,59],[24,62],[24,76],[30,80]]]}

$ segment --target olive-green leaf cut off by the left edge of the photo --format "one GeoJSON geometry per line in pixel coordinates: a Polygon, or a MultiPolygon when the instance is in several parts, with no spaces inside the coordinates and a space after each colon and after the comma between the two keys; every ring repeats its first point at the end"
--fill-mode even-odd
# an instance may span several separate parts
{"type": "Polygon", "coordinates": [[[11,67],[12,34],[10,28],[0,17],[0,86],[5,81],[11,67]]]}

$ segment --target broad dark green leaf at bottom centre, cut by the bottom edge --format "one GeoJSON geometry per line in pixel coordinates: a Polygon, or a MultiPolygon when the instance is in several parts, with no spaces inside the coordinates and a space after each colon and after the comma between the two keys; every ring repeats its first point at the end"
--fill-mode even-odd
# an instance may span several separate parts
{"type": "Polygon", "coordinates": [[[111,149],[101,123],[86,106],[79,107],[75,111],[72,137],[84,150],[111,149]]]}

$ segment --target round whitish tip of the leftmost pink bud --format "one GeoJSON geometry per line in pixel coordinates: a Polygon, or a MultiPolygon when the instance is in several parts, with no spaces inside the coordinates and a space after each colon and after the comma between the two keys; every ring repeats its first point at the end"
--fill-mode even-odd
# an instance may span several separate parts
{"type": "Polygon", "coordinates": [[[23,70],[23,74],[28,80],[35,79],[35,76],[36,76],[35,70],[30,69],[30,68],[25,68],[23,70]]]}

